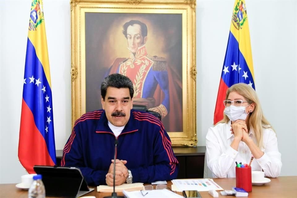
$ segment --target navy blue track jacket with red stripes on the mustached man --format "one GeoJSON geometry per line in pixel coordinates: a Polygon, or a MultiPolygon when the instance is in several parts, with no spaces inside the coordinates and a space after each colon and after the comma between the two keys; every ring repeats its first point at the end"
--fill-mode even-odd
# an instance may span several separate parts
{"type": "MultiPolygon", "coordinates": [[[[106,184],[115,139],[105,111],[88,112],[75,122],[63,149],[61,166],[80,168],[89,185],[106,184]]],[[[161,121],[137,110],[131,110],[129,121],[118,136],[116,158],[127,160],[125,166],[131,170],[133,183],[176,179],[179,170],[161,121]]]]}

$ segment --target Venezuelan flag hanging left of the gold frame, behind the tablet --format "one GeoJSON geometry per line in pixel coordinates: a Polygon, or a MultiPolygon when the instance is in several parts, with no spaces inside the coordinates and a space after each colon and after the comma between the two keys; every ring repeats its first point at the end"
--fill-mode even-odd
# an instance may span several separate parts
{"type": "Polygon", "coordinates": [[[19,161],[34,173],[34,165],[54,166],[52,91],[42,0],[32,0],[25,60],[19,130],[19,161]]]}

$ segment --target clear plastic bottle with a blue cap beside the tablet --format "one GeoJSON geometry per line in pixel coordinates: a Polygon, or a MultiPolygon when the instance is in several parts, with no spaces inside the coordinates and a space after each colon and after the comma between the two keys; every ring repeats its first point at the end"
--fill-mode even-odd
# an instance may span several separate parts
{"type": "Polygon", "coordinates": [[[28,198],[45,198],[45,187],[41,179],[41,174],[33,176],[33,183],[29,188],[28,198]]]}

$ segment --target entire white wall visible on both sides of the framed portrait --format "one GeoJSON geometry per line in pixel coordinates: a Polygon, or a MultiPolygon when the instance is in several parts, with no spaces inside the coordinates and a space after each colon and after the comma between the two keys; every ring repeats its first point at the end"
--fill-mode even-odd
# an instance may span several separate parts
{"type": "MultiPolygon", "coordinates": [[[[246,0],[246,4],[256,91],[277,132],[283,162],[281,175],[297,175],[292,168],[297,163],[297,1],[246,0]]],[[[0,183],[19,183],[20,175],[26,173],[17,150],[30,5],[31,0],[0,1],[0,183]]],[[[234,0],[197,0],[199,146],[205,145],[207,130],[213,123],[233,5],[234,0]]],[[[69,0],[44,0],[44,13],[56,149],[63,149],[71,133],[69,0]]]]}

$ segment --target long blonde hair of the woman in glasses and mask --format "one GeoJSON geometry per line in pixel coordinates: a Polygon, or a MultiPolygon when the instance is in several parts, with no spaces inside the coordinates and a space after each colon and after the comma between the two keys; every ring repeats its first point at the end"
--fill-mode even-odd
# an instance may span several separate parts
{"type": "MultiPolygon", "coordinates": [[[[264,117],[259,98],[257,97],[256,91],[248,84],[238,83],[232,85],[226,93],[226,100],[231,92],[237,92],[239,95],[245,97],[249,104],[255,103],[255,109],[250,112],[250,118],[248,126],[254,130],[257,146],[261,149],[263,146],[263,134],[262,128],[272,128],[268,120],[264,117]]],[[[228,123],[229,118],[224,114],[224,118],[218,123],[228,123]]],[[[217,124],[218,124],[217,123],[217,124]]],[[[273,130],[274,131],[274,130],[273,130]]]]}

